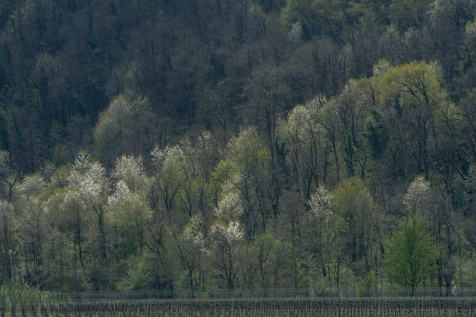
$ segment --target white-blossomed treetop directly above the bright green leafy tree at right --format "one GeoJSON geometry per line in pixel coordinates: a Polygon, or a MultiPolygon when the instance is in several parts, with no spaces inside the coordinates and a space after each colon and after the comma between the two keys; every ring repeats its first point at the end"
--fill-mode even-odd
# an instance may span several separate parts
{"type": "Polygon", "coordinates": [[[431,197],[430,182],[425,175],[418,175],[403,195],[404,214],[406,218],[413,218],[418,213],[425,211],[429,198],[431,197]]]}

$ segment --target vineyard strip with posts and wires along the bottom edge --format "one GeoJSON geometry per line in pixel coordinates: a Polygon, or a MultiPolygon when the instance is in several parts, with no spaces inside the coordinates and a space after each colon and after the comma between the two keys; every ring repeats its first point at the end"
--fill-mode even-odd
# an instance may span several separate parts
{"type": "Polygon", "coordinates": [[[4,293],[0,317],[476,317],[474,288],[4,293]]]}

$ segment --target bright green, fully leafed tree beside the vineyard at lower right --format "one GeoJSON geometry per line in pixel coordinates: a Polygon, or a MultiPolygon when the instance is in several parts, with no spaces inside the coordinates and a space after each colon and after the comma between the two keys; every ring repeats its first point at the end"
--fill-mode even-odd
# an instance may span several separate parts
{"type": "Polygon", "coordinates": [[[390,283],[413,289],[429,277],[438,250],[425,227],[425,218],[407,219],[387,241],[384,272],[390,283]]]}

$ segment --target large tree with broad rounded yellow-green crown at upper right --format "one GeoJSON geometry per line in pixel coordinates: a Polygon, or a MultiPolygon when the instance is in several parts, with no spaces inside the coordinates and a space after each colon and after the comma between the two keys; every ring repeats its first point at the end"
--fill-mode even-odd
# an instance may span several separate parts
{"type": "Polygon", "coordinates": [[[392,123],[389,147],[394,151],[394,161],[399,161],[396,165],[402,166],[401,176],[406,169],[415,170],[417,175],[428,173],[430,152],[438,146],[431,131],[448,123],[444,118],[447,92],[441,85],[438,69],[437,63],[412,61],[391,67],[379,77],[382,100],[379,109],[384,110],[392,123]]]}

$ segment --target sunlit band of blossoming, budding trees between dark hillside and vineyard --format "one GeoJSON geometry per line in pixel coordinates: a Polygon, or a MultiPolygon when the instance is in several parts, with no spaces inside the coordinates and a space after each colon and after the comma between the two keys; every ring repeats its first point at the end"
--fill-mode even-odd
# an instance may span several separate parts
{"type": "Polygon", "coordinates": [[[441,82],[437,62],[379,59],[334,97],[280,119],[259,102],[256,125],[220,117],[175,144],[149,142],[149,101],[119,95],[69,164],[22,175],[0,151],[1,283],[474,286],[475,170],[456,153],[471,109],[441,82]]]}

